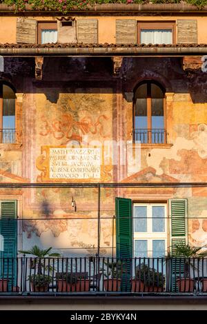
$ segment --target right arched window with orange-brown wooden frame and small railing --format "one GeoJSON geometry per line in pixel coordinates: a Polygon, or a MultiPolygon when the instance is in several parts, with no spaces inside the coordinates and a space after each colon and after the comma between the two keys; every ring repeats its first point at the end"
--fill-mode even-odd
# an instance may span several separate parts
{"type": "Polygon", "coordinates": [[[141,143],[166,143],[164,90],[153,81],[135,90],[133,139],[141,143]]]}

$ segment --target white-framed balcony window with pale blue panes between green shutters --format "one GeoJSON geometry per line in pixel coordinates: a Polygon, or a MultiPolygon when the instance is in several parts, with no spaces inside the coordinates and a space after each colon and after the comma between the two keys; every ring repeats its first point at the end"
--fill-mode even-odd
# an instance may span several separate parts
{"type": "Polygon", "coordinates": [[[167,252],[167,217],[164,203],[135,203],[134,256],[164,257],[167,252]]]}

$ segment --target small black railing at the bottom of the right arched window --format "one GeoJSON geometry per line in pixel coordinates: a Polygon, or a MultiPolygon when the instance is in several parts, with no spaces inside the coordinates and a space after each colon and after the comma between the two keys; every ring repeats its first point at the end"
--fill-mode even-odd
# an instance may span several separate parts
{"type": "Polygon", "coordinates": [[[167,132],[161,128],[149,129],[134,129],[133,141],[141,144],[165,144],[167,143],[167,132]]]}

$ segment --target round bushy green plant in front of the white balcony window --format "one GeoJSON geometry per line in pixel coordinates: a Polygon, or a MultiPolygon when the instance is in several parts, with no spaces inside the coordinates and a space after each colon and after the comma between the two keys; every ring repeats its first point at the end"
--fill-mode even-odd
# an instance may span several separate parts
{"type": "Polygon", "coordinates": [[[162,272],[158,272],[155,268],[148,267],[144,263],[135,268],[135,279],[141,280],[145,285],[154,285],[155,287],[163,287],[166,280],[162,272]]]}

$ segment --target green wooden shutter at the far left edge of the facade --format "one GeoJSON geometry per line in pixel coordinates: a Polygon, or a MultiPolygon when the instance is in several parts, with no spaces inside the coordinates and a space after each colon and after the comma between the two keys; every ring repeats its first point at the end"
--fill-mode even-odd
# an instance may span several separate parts
{"type": "Polygon", "coordinates": [[[1,276],[9,279],[11,289],[17,276],[17,201],[1,201],[0,233],[4,241],[1,276]]]}

